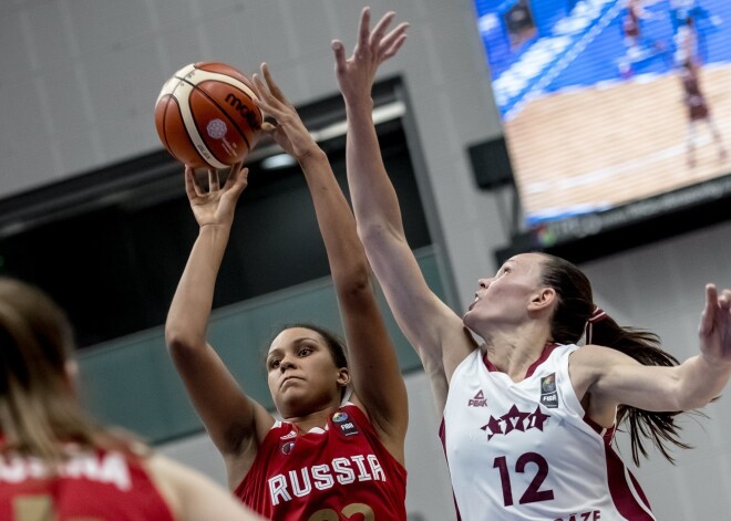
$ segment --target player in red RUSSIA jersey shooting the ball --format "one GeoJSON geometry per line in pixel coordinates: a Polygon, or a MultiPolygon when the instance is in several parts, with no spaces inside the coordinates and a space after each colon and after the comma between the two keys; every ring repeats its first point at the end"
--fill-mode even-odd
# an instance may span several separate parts
{"type": "MultiPolygon", "coordinates": [[[[385,29],[385,25],[383,27],[385,29]]],[[[382,35],[390,55],[405,27],[382,35]]],[[[383,59],[389,58],[384,55],[383,59]]],[[[278,520],[405,520],[406,393],[370,282],[356,222],[322,149],[266,66],[254,83],[265,124],[298,161],[325,240],[349,346],[313,325],[288,327],[271,342],[266,368],[281,420],[244,394],[206,342],[216,274],[247,170],[234,168],[204,190],[186,169],[200,227],[173,299],[166,338],[228,483],[245,504],[278,520]],[[362,518],[361,518],[362,517],[362,518]]],[[[285,211],[285,209],[282,209],[285,211]]],[[[251,354],[255,358],[255,355],[251,354]]]]}

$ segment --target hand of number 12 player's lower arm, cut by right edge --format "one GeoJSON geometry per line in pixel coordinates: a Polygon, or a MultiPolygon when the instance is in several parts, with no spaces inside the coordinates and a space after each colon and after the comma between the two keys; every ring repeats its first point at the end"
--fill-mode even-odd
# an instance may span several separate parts
{"type": "Polygon", "coordinates": [[[710,362],[731,364],[731,290],[719,295],[715,285],[706,285],[706,308],[698,329],[700,350],[710,362]]]}

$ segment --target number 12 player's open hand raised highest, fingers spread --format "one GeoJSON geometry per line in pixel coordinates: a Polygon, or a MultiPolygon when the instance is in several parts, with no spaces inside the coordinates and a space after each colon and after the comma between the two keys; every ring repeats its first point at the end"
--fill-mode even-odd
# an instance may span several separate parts
{"type": "Polygon", "coordinates": [[[350,58],[346,59],[346,49],[339,40],[332,41],[336,59],[336,75],[340,92],[346,103],[370,100],[371,87],[381,63],[395,55],[406,40],[409,24],[400,23],[391,32],[385,31],[395,17],[393,11],[385,13],[370,30],[371,10],[364,8],[360,17],[358,43],[350,58]]]}

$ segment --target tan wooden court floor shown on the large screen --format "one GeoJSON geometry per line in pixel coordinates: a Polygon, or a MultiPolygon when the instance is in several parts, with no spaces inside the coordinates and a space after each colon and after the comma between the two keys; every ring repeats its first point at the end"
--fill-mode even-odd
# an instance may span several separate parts
{"type": "MultiPolygon", "coordinates": [[[[701,90],[731,155],[731,65],[703,69],[701,90]]],[[[636,79],[534,100],[505,133],[526,213],[618,205],[731,173],[703,123],[694,167],[680,79],[636,79]]]]}

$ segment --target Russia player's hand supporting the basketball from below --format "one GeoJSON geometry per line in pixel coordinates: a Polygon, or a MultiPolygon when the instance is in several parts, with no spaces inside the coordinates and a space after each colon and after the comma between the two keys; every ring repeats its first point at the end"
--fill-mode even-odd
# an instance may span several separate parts
{"type": "Polygon", "coordinates": [[[199,227],[225,225],[234,222],[236,202],[248,183],[248,168],[241,168],[241,163],[231,166],[228,178],[220,186],[218,171],[208,170],[208,189],[204,189],[195,177],[193,168],[185,167],[185,192],[191,201],[191,208],[199,227]]]}

